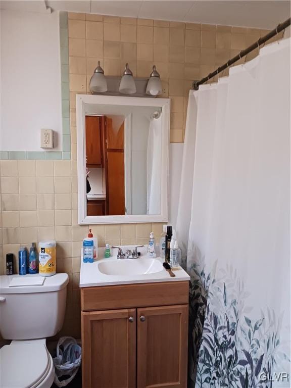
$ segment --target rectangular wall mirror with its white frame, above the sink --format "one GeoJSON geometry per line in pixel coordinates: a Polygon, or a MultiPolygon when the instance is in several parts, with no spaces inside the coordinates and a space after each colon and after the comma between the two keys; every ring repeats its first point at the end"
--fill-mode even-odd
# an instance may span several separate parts
{"type": "Polygon", "coordinates": [[[170,100],[76,95],[78,223],[167,221],[170,100]]]}

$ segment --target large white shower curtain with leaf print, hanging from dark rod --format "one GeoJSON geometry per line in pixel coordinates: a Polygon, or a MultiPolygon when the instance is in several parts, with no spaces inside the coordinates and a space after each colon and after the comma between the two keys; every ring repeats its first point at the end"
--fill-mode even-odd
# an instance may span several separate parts
{"type": "Polygon", "coordinates": [[[188,387],[291,385],[289,88],[285,39],[190,91],[176,225],[188,387]]]}

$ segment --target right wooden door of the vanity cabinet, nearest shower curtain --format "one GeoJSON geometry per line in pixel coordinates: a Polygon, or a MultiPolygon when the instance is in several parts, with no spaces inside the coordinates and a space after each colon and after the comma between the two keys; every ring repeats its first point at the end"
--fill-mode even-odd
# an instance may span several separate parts
{"type": "Polygon", "coordinates": [[[137,388],[186,388],[188,305],[137,309],[137,388]]]}

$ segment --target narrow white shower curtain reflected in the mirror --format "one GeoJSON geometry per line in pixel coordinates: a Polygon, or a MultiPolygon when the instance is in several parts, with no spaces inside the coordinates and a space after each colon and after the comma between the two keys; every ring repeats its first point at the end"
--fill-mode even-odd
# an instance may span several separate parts
{"type": "Polygon", "coordinates": [[[161,116],[150,121],[147,149],[147,214],[161,213],[161,116]]]}

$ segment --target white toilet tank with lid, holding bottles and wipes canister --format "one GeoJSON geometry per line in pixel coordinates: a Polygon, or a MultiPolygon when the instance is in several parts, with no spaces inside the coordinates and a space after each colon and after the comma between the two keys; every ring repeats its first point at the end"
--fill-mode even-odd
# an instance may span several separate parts
{"type": "Polygon", "coordinates": [[[65,317],[68,282],[66,273],[50,277],[38,274],[0,276],[2,337],[6,340],[33,340],[51,337],[60,331],[65,317]],[[12,286],[15,277],[21,278],[22,285],[12,286]],[[36,285],[42,279],[43,284],[36,285]]]}

